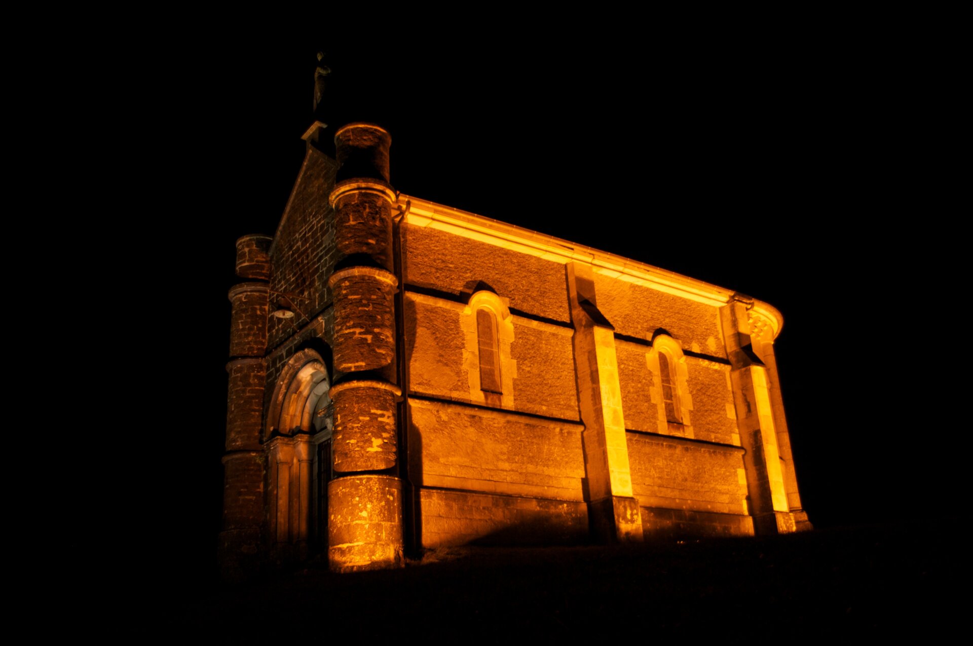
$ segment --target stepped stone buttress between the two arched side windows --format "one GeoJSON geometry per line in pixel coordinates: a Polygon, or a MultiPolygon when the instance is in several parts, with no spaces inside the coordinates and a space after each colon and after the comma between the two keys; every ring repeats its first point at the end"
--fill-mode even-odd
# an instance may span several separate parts
{"type": "Polygon", "coordinates": [[[612,543],[641,541],[642,519],[631,491],[614,328],[597,309],[590,267],[568,264],[567,283],[574,322],[575,376],[585,424],[587,502],[595,538],[612,543]]]}

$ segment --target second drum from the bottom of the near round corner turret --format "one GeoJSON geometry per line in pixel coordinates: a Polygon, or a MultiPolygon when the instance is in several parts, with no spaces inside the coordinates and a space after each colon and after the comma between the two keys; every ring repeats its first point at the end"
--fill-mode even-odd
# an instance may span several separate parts
{"type": "Polygon", "coordinates": [[[331,389],[335,471],[378,471],[395,466],[395,399],[399,392],[378,381],[349,381],[331,389]]]}

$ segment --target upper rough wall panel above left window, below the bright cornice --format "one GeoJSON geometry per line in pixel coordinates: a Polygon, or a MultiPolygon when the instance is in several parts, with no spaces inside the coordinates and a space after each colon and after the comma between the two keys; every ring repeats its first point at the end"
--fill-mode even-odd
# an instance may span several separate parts
{"type": "Polygon", "coordinates": [[[571,320],[564,266],[479,240],[407,225],[403,281],[460,294],[480,281],[510,299],[510,308],[565,323],[571,320]]]}

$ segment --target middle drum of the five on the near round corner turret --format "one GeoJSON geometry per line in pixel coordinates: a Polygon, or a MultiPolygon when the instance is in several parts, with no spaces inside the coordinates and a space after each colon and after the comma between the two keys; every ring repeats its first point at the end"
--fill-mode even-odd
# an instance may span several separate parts
{"type": "Polygon", "coordinates": [[[335,293],[335,368],[377,370],[395,359],[395,276],[382,269],[343,269],[335,293]]]}

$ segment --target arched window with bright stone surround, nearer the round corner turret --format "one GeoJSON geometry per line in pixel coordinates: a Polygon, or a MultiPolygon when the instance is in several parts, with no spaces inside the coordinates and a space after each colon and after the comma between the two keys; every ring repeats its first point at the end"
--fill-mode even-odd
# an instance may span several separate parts
{"type": "Polygon", "coordinates": [[[517,362],[510,354],[514,319],[506,299],[487,290],[475,292],[463,308],[460,325],[471,403],[513,409],[517,362]]]}

